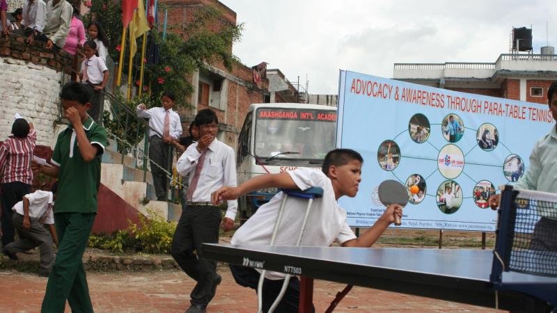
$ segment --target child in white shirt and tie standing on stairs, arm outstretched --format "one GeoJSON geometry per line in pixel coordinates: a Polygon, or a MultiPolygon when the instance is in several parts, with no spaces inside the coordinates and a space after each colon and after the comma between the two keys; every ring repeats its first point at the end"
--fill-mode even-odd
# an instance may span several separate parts
{"type": "Polygon", "coordinates": [[[172,145],[182,134],[180,115],[172,110],[174,100],[174,93],[165,91],[161,97],[162,107],[147,109],[145,104],[139,104],[136,109],[137,116],[149,119],[149,159],[152,183],[159,201],[166,201],[169,178],[159,166],[170,172],[172,145]]]}

